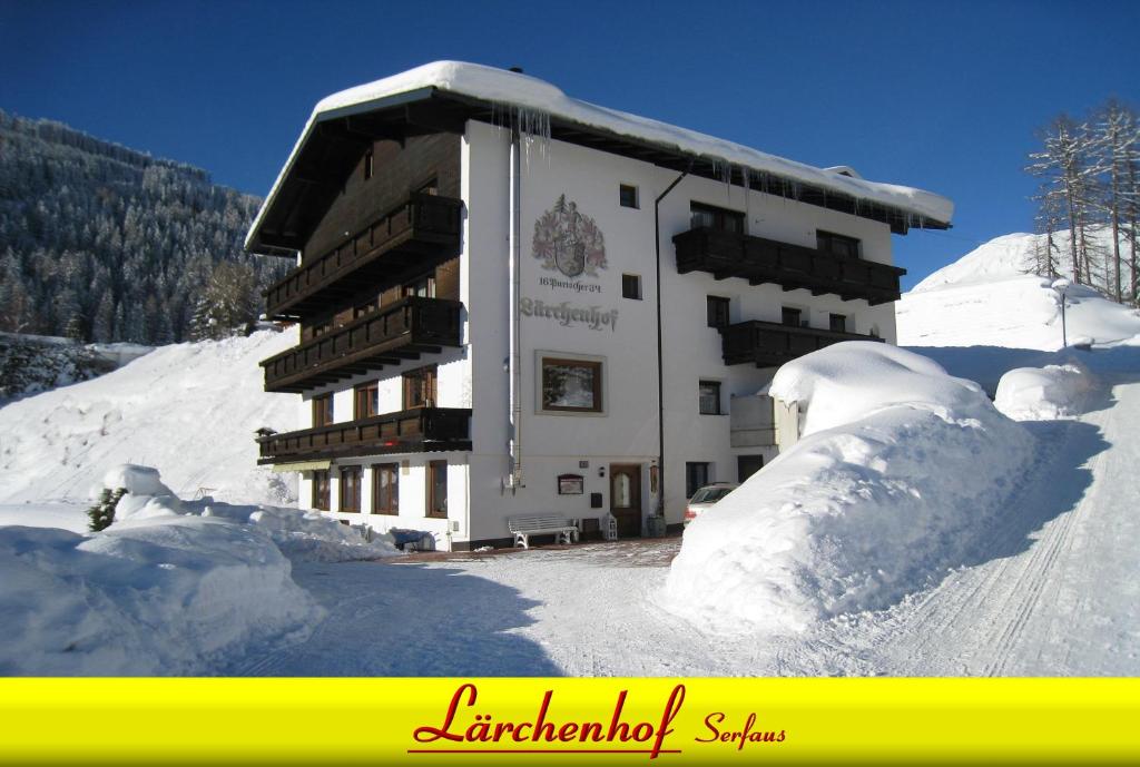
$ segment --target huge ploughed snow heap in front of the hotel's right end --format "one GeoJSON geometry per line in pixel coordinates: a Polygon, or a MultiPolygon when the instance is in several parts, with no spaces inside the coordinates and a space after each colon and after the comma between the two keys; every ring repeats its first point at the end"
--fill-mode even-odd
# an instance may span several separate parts
{"type": "Polygon", "coordinates": [[[804,438],[685,531],[662,595],[720,631],[800,630],[886,607],[961,564],[1033,455],[977,384],[847,342],[776,373],[804,438]]]}

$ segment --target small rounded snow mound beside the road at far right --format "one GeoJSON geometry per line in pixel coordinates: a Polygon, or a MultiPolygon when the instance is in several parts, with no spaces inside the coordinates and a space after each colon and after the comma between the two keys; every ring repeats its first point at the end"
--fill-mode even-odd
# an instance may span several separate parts
{"type": "Polygon", "coordinates": [[[1092,390],[1080,362],[1021,367],[1001,377],[994,406],[1013,421],[1056,421],[1084,413],[1092,390]]]}

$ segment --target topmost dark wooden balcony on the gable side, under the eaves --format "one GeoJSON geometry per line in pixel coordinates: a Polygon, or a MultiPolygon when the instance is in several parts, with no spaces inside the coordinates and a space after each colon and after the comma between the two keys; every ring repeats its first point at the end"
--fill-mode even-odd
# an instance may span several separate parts
{"type": "Polygon", "coordinates": [[[295,319],[327,309],[361,286],[412,266],[430,267],[459,252],[462,201],[412,195],[396,210],[304,263],[266,291],[271,319],[295,319]]]}

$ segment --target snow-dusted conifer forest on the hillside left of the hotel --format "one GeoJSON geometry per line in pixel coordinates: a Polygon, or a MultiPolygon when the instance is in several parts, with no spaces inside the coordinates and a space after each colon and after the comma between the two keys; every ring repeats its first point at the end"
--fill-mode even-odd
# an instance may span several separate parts
{"type": "Polygon", "coordinates": [[[259,203],[0,111],[0,331],[157,345],[243,328],[285,269],[242,251],[259,203]]]}

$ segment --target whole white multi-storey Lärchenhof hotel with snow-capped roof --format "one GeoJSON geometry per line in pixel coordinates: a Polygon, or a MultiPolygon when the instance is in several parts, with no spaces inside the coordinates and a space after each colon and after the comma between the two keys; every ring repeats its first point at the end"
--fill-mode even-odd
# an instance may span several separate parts
{"type": "Polygon", "coordinates": [[[246,248],[298,345],[266,390],[311,427],[259,438],[303,506],[441,548],[557,512],[679,524],[776,454],[784,361],[893,342],[891,238],[948,201],[437,63],[317,105],[246,248]],[[286,395],[286,394],[283,394],[286,395]]]}

